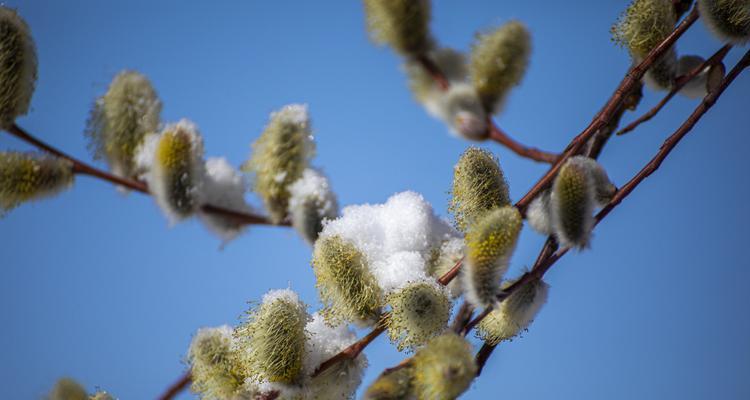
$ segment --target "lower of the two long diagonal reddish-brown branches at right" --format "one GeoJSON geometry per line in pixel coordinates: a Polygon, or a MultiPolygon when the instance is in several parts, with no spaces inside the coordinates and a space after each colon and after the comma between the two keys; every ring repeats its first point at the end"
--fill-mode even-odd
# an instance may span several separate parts
{"type": "MultiPolygon", "coordinates": [[[[633,190],[635,190],[635,188],[641,184],[641,182],[643,182],[647,177],[649,177],[659,169],[662,162],[664,162],[669,153],[671,153],[672,150],[674,150],[674,148],[677,146],[677,144],[695,127],[698,121],[716,103],[722,93],[724,93],[726,88],[729,87],[729,85],[737,78],[737,76],[739,76],[739,74],[748,67],[750,67],[750,50],[746,52],[742,59],[740,59],[740,61],[734,66],[734,68],[729,71],[727,76],[721,81],[721,84],[719,84],[719,86],[715,90],[711,91],[711,93],[706,95],[703,101],[695,108],[695,110],[690,114],[685,122],[683,122],[682,125],[680,125],[680,127],[677,128],[677,130],[664,141],[656,155],[633,178],[631,178],[630,181],[623,185],[617,191],[617,193],[615,193],[609,203],[607,203],[607,205],[604,206],[596,214],[596,216],[594,217],[594,226],[598,225],[605,217],[607,217],[607,215],[609,215],[609,213],[612,212],[615,207],[617,207],[630,193],[632,193],[633,190]]],[[[549,271],[550,268],[552,268],[557,260],[562,258],[568,252],[568,250],[569,248],[559,249],[553,252],[551,255],[545,257],[541,261],[537,260],[537,263],[531,271],[525,273],[521,277],[521,279],[516,281],[513,285],[506,289],[504,293],[498,296],[498,301],[500,302],[503,299],[507,298],[510,293],[512,293],[514,290],[517,290],[517,287],[520,287],[521,285],[526,284],[534,279],[541,279],[544,274],[549,271]]],[[[483,318],[483,316],[481,315],[480,317],[483,318]]],[[[476,325],[476,323],[481,321],[480,317],[475,318],[472,323],[476,325]]],[[[487,361],[487,358],[489,358],[490,354],[492,353],[492,350],[493,349],[482,347],[479,353],[477,353],[477,362],[479,363],[481,361],[481,364],[478,364],[479,371],[481,371],[484,363],[487,361]]]]}

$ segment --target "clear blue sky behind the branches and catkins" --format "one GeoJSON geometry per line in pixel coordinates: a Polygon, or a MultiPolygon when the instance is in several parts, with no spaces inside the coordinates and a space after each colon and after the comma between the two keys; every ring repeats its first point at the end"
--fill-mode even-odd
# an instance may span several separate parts
{"type": "MultiPolygon", "coordinates": [[[[245,160],[269,112],[310,105],[315,164],[343,205],[403,190],[446,207],[450,137],[408,92],[399,60],[367,39],[358,1],[7,1],[39,53],[31,113],[19,123],[89,159],[89,106],[123,68],[148,75],[163,119],[201,128],[208,155],[245,160]]],[[[533,33],[531,68],[499,124],[559,150],[603,105],[629,65],[608,30],[624,1],[436,1],[433,28],[467,49],[511,18],[533,33]]],[[[698,23],[679,52],[719,47],[698,23]]],[[[732,64],[742,49],[727,58],[732,64]]],[[[661,94],[646,92],[642,109],[661,94]]],[[[602,162],[632,176],[697,103],[676,98],[602,162]]],[[[465,399],[750,398],[750,73],[741,76],[662,168],[597,228],[593,248],[550,271],[550,300],[530,331],[503,344],[465,399]]],[[[626,120],[633,118],[632,114],[626,120]]],[[[544,171],[488,143],[519,198],[544,171]]],[[[0,134],[0,148],[28,149],[0,134]]],[[[256,202],[257,203],[257,202],[256,202]]],[[[513,268],[543,238],[525,230],[513,268]]],[[[80,178],[0,221],[0,384],[36,399],[61,376],[122,399],[154,398],[184,370],[201,326],[236,323],[246,302],[291,286],[317,307],[310,248],[285,228],[253,228],[223,251],[197,222],[167,226],[153,200],[80,178]]],[[[367,351],[369,383],[403,356],[367,351]]],[[[190,398],[184,395],[182,398],[190,398]]]]}

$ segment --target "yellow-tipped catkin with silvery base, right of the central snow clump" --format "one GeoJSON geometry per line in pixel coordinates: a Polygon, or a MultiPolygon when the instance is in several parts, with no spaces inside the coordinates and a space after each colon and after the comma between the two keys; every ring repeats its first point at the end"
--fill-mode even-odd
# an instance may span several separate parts
{"type": "Polygon", "coordinates": [[[522,225],[518,209],[505,206],[486,214],[466,233],[461,281],[466,300],[475,307],[495,303],[522,225]]]}

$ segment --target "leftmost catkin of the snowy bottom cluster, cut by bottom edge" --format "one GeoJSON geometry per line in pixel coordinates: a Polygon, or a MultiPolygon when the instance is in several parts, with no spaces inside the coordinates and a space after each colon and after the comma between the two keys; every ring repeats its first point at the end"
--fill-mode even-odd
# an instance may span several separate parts
{"type": "Polygon", "coordinates": [[[191,389],[207,399],[229,399],[242,391],[244,376],[234,351],[232,328],[202,328],[188,350],[191,389]]]}

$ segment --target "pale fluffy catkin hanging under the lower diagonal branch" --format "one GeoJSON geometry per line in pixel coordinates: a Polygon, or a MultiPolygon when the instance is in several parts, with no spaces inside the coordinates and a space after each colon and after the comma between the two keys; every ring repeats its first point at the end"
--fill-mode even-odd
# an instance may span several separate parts
{"type": "MultiPolygon", "coordinates": [[[[507,288],[513,281],[506,281],[507,288]]],[[[547,301],[549,285],[532,280],[521,286],[494,308],[477,326],[477,337],[495,346],[528,328],[547,301]]]]}

